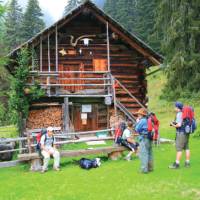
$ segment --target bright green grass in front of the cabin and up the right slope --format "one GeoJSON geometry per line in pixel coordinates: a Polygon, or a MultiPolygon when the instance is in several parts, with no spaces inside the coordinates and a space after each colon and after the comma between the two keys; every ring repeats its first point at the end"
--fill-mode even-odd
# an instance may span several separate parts
{"type": "MultiPolygon", "coordinates": [[[[174,138],[169,122],[174,118],[173,102],[159,99],[165,77],[162,72],[149,78],[150,109],[161,121],[161,137],[174,138]]],[[[200,119],[198,101],[184,102],[193,105],[197,122],[200,119]]],[[[198,123],[199,124],[199,123],[198,123]]],[[[127,162],[102,158],[102,166],[89,171],[81,169],[78,158],[62,159],[61,171],[45,174],[29,172],[28,165],[0,169],[0,200],[200,200],[200,137],[197,130],[191,136],[191,168],[170,170],[175,159],[175,147],[162,144],[154,148],[155,170],[139,173],[139,159],[127,162]]],[[[68,146],[70,149],[77,145],[68,146]]],[[[85,144],[79,148],[86,148],[85,144]]],[[[102,156],[102,155],[99,155],[102,156]]]]}

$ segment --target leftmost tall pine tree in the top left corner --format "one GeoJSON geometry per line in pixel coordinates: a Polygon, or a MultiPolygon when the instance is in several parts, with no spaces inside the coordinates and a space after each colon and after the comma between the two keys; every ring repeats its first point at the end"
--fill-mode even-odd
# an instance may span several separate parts
{"type": "Polygon", "coordinates": [[[20,40],[20,24],[22,20],[22,9],[17,0],[12,0],[8,6],[5,16],[4,41],[8,50],[17,47],[20,40]]]}

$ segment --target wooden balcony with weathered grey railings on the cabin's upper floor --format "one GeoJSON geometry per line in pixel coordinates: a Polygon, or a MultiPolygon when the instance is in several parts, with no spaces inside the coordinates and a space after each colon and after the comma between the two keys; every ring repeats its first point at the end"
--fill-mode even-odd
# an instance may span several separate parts
{"type": "Polygon", "coordinates": [[[39,83],[47,96],[112,96],[112,81],[107,71],[31,71],[27,85],[35,82],[39,83]]]}

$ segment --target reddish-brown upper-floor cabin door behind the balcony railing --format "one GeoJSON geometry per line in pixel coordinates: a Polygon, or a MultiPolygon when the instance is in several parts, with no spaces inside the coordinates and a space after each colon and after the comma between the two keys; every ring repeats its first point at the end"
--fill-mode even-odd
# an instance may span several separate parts
{"type": "Polygon", "coordinates": [[[59,66],[59,83],[60,84],[69,84],[69,86],[63,86],[62,88],[65,91],[70,93],[78,92],[83,90],[84,84],[83,74],[84,71],[83,63],[73,63],[73,64],[65,64],[59,66]],[[68,73],[67,73],[68,72],[68,73]]]}

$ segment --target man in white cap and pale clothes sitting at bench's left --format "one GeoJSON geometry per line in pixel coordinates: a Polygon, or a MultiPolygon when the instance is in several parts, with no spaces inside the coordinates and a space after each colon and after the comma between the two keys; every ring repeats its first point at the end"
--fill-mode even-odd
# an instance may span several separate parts
{"type": "Polygon", "coordinates": [[[41,150],[43,156],[43,166],[42,166],[42,173],[48,170],[48,164],[50,160],[50,156],[54,158],[54,169],[59,171],[60,168],[60,153],[55,147],[54,136],[53,136],[53,128],[48,127],[47,133],[41,137],[41,150]]]}

